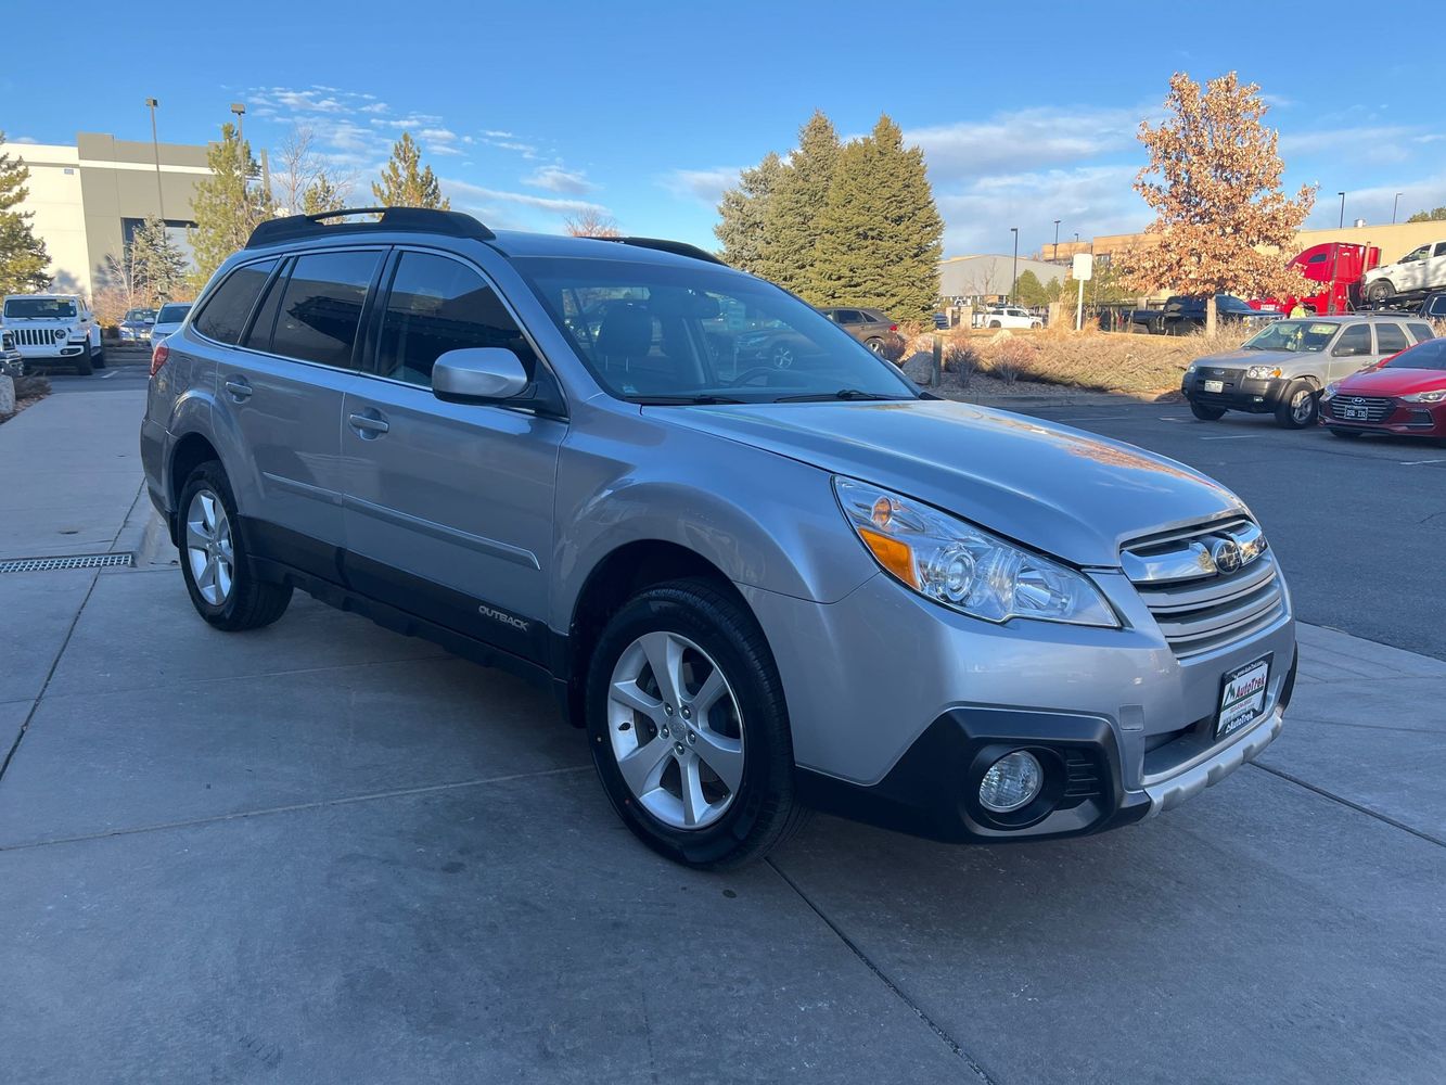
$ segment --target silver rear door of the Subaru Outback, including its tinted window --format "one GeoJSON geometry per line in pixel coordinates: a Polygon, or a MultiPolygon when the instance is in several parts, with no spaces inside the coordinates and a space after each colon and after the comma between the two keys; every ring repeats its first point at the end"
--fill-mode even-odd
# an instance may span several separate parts
{"type": "Polygon", "coordinates": [[[356,380],[362,312],[383,255],[328,249],[286,260],[240,349],[217,367],[217,411],[249,460],[233,485],[252,545],[331,582],[343,545],[341,399],[356,380]]]}

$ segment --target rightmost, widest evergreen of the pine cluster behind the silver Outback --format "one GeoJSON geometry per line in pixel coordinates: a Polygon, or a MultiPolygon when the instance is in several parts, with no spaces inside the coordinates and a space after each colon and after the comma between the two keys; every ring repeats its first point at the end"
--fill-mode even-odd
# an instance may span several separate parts
{"type": "Polygon", "coordinates": [[[816,305],[869,305],[895,320],[927,320],[938,301],[944,221],[924,153],[904,146],[888,116],[839,155],[816,259],[803,295],[816,305]]]}

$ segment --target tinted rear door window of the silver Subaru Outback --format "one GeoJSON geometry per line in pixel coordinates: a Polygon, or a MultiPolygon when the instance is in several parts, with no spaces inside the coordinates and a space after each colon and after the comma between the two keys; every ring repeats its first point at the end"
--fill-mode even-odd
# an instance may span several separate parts
{"type": "Polygon", "coordinates": [[[298,256],[286,276],[272,334],[272,353],[347,369],[362,324],[362,305],[376,275],[377,252],[298,256]]]}

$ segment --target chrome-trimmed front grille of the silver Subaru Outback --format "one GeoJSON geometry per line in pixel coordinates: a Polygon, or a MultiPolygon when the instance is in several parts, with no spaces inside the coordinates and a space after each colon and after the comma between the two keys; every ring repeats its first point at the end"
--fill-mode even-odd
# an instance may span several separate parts
{"type": "Polygon", "coordinates": [[[1238,516],[1147,535],[1121,548],[1125,574],[1177,658],[1229,648],[1285,613],[1268,548],[1229,573],[1210,557],[1223,540],[1248,544],[1255,538],[1261,538],[1259,528],[1238,516]]]}

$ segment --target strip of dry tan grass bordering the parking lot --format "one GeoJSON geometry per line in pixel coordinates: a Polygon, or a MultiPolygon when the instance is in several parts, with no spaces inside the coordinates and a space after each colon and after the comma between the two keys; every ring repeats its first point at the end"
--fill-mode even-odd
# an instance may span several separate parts
{"type": "MultiPolygon", "coordinates": [[[[1190,362],[1235,350],[1245,340],[1245,333],[1235,331],[1131,336],[1073,328],[993,333],[954,328],[940,334],[944,339],[944,372],[957,373],[964,385],[979,373],[1005,385],[1028,380],[1137,395],[1178,388],[1190,362]]],[[[917,336],[908,353],[927,352],[931,346],[930,334],[917,336]]]]}

